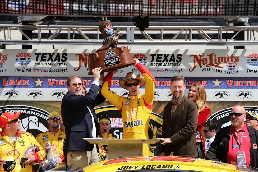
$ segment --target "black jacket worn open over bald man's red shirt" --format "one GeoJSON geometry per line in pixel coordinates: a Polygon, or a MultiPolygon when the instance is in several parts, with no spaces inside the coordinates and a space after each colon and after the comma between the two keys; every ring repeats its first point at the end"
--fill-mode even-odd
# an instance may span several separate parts
{"type": "MultiPolygon", "coordinates": [[[[230,126],[223,127],[219,129],[217,132],[214,141],[210,144],[210,148],[207,151],[206,154],[206,160],[216,160],[218,158],[218,161],[221,162],[227,162],[227,153],[228,153],[228,147],[229,147],[229,131],[230,126]],[[220,144],[220,142],[223,142],[223,145],[220,144]],[[221,146],[220,146],[221,145],[221,146]]],[[[250,136],[250,142],[251,142],[251,161],[250,166],[258,168],[258,131],[255,128],[247,126],[247,130],[249,132],[250,136]]]]}

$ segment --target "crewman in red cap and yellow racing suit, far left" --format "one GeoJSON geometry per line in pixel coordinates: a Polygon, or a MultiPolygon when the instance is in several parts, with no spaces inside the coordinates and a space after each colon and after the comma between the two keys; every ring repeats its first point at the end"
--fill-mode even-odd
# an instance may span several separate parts
{"type": "MultiPolygon", "coordinates": [[[[20,131],[20,114],[21,112],[5,112],[0,116],[0,128],[2,128],[2,132],[0,132],[0,169],[6,164],[4,159],[8,156],[17,161],[15,168],[21,168],[20,172],[32,172],[32,163],[41,162],[46,157],[46,151],[31,133],[20,131]],[[34,154],[24,156],[25,151],[31,146],[35,148],[33,149],[34,154]]],[[[10,171],[10,169],[5,171],[10,171]]]]}

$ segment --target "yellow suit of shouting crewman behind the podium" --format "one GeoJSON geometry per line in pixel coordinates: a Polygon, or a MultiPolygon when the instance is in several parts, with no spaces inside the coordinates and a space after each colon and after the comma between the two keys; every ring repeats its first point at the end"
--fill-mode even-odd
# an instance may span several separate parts
{"type": "MultiPolygon", "coordinates": [[[[99,133],[99,137],[103,138],[103,139],[117,139],[116,137],[113,137],[111,133],[107,134],[100,134],[99,133]]],[[[108,160],[108,144],[107,143],[98,143],[99,146],[99,162],[100,161],[104,161],[104,160],[108,160]]]]}

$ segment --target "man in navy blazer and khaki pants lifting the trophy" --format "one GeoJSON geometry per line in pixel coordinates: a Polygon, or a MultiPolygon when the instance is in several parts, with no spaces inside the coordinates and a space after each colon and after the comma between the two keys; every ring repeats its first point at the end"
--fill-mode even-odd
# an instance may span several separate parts
{"type": "Polygon", "coordinates": [[[67,79],[68,93],[63,97],[61,109],[66,134],[66,168],[69,171],[80,170],[91,163],[99,162],[95,144],[90,144],[83,138],[96,138],[99,135],[94,106],[106,100],[100,93],[101,71],[101,67],[92,69],[94,81],[85,95],[82,95],[81,77],[73,75],[67,79]]]}

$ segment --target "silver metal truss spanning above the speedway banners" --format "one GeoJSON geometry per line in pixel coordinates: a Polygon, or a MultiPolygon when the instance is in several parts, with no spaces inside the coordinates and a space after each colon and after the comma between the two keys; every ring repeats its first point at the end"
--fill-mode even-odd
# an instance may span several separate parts
{"type": "MultiPolygon", "coordinates": [[[[258,26],[113,26],[119,45],[258,45],[258,26]],[[245,40],[235,40],[240,33],[245,40]]],[[[4,45],[102,45],[99,26],[0,25],[4,45]],[[27,35],[32,32],[32,37],[27,35]],[[22,36],[23,35],[23,38],[22,36]]]]}

